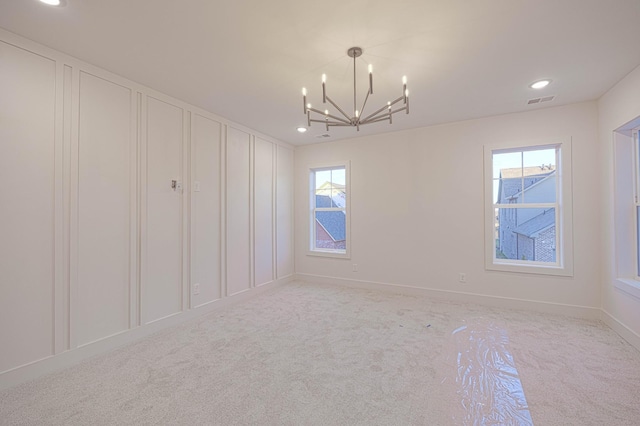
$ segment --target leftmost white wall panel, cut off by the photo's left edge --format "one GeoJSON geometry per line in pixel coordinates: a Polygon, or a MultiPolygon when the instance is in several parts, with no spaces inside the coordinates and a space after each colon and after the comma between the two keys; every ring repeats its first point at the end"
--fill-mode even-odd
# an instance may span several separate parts
{"type": "Polygon", "coordinates": [[[53,353],[56,63],[0,42],[0,371],[53,353]]]}

